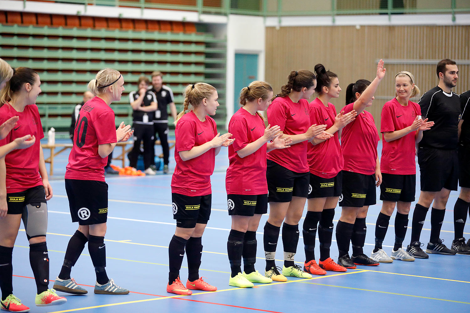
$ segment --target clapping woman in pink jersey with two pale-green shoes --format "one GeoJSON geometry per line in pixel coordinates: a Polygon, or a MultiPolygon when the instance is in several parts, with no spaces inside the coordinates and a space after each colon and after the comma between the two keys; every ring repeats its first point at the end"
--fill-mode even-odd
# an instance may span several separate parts
{"type": "Polygon", "coordinates": [[[227,240],[230,286],[246,288],[253,287],[253,282],[273,281],[255,270],[256,231],[261,215],[267,213],[266,152],[289,148],[291,139],[281,139],[277,125],[265,127],[264,118],[258,113],[266,111],[272,98],[270,84],[252,82],[242,89],[242,107],[228,124],[228,132],[236,138],[228,147],[230,165],[226,176],[228,214],[232,217],[227,240]]]}

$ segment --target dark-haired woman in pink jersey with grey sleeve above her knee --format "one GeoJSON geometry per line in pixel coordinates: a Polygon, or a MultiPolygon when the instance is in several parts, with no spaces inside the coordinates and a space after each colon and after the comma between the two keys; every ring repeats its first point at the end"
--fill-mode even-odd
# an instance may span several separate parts
{"type": "Polygon", "coordinates": [[[35,104],[41,92],[41,81],[35,70],[23,67],[15,69],[10,77],[0,94],[0,125],[15,121],[16,119],[11,120],[13,117],[18,119],[16,125],[13,123],[11,131],[1,133],[0,145],[9,145],[25,136],[36,140],[26,149],[14,150],[0,159],[1,308],[9,312],[29,312],[30,308],[13,295],[12,254],[22,219],[29,241],[31,269],[36,281],[35,304],[60,305],[67,302],[67,299],[59,297],[54,289],[48,288],[47,200],[52,198],[52,187],[39,144],[44,133],[35,104]]]}

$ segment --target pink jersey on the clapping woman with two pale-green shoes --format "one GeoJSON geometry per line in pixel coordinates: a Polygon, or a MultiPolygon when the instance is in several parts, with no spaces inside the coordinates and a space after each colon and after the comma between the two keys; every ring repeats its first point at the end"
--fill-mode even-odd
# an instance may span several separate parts
{"type": "Polygon", "coordinates": [[[239,108],[230,119],[228,132],[232,134],[235,141],[228,146],[230,165],[225,178],[227,194],[261,195],[267,193],[267,144],[244,158],[240,158],[237,153],[238,150],[262,137],[264,130],[264,120],[258,114],[251,115],[243,108],[239,108]]]}

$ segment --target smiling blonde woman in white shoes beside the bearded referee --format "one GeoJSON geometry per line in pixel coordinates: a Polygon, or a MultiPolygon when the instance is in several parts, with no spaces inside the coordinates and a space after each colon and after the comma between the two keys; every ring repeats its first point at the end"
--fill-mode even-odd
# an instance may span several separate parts
{"type": "Polygon", "coordinates": [[[380,263],[415,260],[402,248],[407,233],[411,202],[415,201],[415,145],[423,138],[423,131],[429,130],[434,125],[434,122],[428,122],[427,118],[421,119],[420,106],[410,101],[410,98],[418,94],[419,88],[415,85],[415,76],[410,72],[401,71],[395,75],[395,98],[386,102],[382,108],[380,199],[383,202],[376,221],[376,246],[370,255],[372,260],[380,263]],[[382,242],[395,206],[397,207],[395,245],[389,257],[382,249],[382,242]]]}

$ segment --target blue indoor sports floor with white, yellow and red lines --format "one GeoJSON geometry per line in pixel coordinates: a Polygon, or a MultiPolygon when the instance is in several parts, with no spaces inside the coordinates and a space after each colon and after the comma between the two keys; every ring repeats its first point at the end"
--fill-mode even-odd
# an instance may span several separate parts
{"type": "MultiPolygon", "coordinates": [[[[379,151],[381,146],[379,144],[379,151]]],[[[47,154],[48,152],[45,151],[47,154]]],[[[172,155],[173,151],[171,152],[172,155]]],[[[47,157],[47,155],[46,155],[47,157]]],[[[47,246],[50,257],[50,288],[63,263],[65,249],[77,224],[71,223],[63,174],[68,153],[56,157],[55,174],[51,178],[54,197],[48,202],[49,225],[47,246]],[[60,177],[62,175],[62,177],[60,177]]],[[[118,164],[118,162],[115,162],[118,164]]],[[[230,218],[227,214],[225,169],[227,149],[216,159],[212,180],[212,213],[203,236],[204,252],[200,275],[218,287],[216,292],[197,292],[192,296],[177,296],[166,292],[168,279],[168,244],[175,222],[171,209],[171,175],[145,177],[107,176],[109,184],[108,232],[105,237],[107,271],[116,283],[131,290],[123,296],[95,295],[94,268],[87,248],[72,269],[72,277],[88,290],[84,296],[63,294],[68,302],[61,306],[36,307],[36,287],[31,279],[28,242],[20,231],[13,251],[13,286],[16,297],[31,307],[31,312],[470,312],[470,256],[431,254],[428,260],[403,262],[377,267],[358,267],[345,273],[328,272],[312,279],[289,277],[287,282],[259,284],[252,289],[228,285],[230,267],[227,259],[227,237],[230,218]]],[[[174,168],[174,161],[170,162],[174,168]]],[[[368,232],[364,252],[374,246],[374,231],[381,201],[377,189],[377,205],[369,208],[368,232]]],[[[419,175],[416,198],[419,196],[419,175]]],[[[86,195],[84,195],[86,197],[86,195]]],[[[450,247],[454,238],[453,207],[458,192],[449,198],[441,238],[450,247]]],[[[412,210],[414,204],[412,204],[412,210]]],[[[341,209],[337,207],[335,223],[341,209]]],[[[411,216],[410,222],[411,228],[411,216]]],[[[258,262],[256,268],[264,274],[263,216],[258,232],[258,262]]],[[[424,224],[422,242],[430,235],[430,214],[424,224]]],[[[394,242],[392,216],[385,237],[384,249],[390,255],[394,242]]],[[[302,221],[300,222],[302,223],[302,221]]],[[[470,237],[470,226],[465,228],[470,237]]],[[[409,243],[410,231],[404,244],[409,243]]],[[[333,237],[334,239],[334,237],[333,237]]],[[[281,238],[279,238],[281,243],[281,238]]],[[[316,252],[318,253],[318,247],[316,252]]],[[[331,256],[337,260],[336,241],[331,256]]],[[[276,262],[282,266],[282,244],[278,244],[276,262]]],[[[298,244],[296,263],[304,262],[302,237],[298,244]]],[[[183,266],[186,265],[186,258],[183,266]]],[[[186,267],[181,269],[181,281],[186,282],[186,267]]]]}

